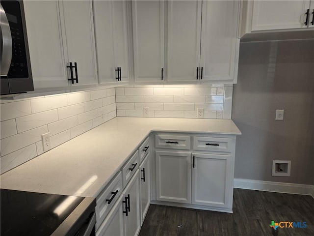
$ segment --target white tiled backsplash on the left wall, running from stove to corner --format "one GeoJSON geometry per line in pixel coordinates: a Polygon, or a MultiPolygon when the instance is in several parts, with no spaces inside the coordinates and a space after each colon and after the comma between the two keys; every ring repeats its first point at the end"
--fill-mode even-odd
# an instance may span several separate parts
{"type": "Polygon", "coordinates": [[[116,117],[115,89],[1,100],[1,174],[116,117]]]}

